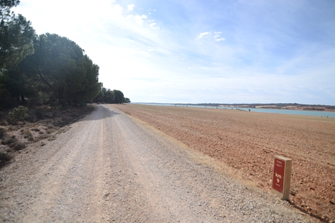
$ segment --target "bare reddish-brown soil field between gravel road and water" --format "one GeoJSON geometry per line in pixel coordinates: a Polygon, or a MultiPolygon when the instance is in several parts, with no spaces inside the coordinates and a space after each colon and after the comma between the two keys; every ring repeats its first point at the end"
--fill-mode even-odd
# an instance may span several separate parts
{"type": "Polygon", "coordinates": [[[292,158],[289,202],[335,222],[335,119],[225,109],[115,105],[270,191],[274,157],[292,158]]]}

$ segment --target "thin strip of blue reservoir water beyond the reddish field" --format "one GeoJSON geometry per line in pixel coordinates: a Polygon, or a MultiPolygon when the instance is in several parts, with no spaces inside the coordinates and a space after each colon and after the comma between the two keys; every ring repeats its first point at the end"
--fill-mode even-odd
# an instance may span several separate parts
{"type": "Polygon", "coordinates": [[[183,104],[156,104],[156,103],[134,103],[134,104],[148,104],[148,105],[159,105],[159,106],[173,106],[173,107],[195,107],[195,108],[206,108],[206,109],[238,109],[250,112],[264,112],[264,113],[275,113],[275,114],[297,114],[297,115],[312,115],[312,116],[323,116],[329,118],[335,118],[335,112],[321,112],[321,111],[304,111],[304,110],[289,110],[289,109],[255,109],[255,108],[240,108],[240,107],[213,107],[213,106],[198,106],[198,105],[183,105],[183,104]]]}

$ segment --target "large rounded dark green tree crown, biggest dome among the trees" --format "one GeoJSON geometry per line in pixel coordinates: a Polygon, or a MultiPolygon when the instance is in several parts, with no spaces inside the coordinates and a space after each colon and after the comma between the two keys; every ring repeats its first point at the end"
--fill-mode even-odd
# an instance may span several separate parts
{"type": "Polygon", "coordinates": [[[85,104],[99,94],[99,67],[75,42],[46,33],[36,39],[34,48],[23,67],[40,89],[50,92],[50,99],[61,105],[85,104]]]}

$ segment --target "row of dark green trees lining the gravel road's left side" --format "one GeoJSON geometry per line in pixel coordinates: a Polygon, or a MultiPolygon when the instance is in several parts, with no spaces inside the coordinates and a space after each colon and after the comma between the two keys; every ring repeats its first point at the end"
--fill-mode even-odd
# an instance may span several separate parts
{"type": "Polygon", "coordinates": [[[30,21],[11,11],[19,2],[0,1],[0,109],[129,102],[119,90],[102,87],[99,66],[75,42],[36,35],[30,21]]]}

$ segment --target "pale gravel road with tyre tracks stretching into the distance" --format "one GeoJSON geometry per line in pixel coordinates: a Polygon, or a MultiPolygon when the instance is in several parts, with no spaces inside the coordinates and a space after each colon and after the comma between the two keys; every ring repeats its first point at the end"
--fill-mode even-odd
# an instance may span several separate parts
{"type": "Polygon", "coordinates": [[[0,222],[317,221],[106,105],[23,150],[0,190],[0,222]]]}

